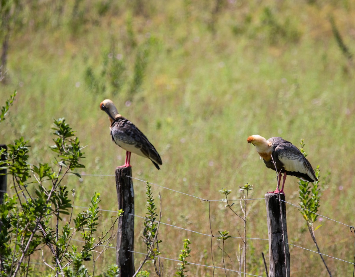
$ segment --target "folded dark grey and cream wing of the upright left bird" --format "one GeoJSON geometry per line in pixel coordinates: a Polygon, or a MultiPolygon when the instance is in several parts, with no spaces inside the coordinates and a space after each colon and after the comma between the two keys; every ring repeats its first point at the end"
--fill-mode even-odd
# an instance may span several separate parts
{"type": "Polygon", "coordinates": [[[116,117],[111,123],[110,130],[112,140],[119,147],[162,165],[157,150],[131,121],[124,117],[116,117]]]}

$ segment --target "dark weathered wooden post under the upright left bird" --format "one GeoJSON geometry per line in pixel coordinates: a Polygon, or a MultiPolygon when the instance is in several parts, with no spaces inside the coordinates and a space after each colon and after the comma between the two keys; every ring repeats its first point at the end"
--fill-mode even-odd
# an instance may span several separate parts
{"type": "Polygon", "coordinates": [[[131,167],[119,167],[115,171],[118,209],[122,216],[118,219],[116,262],[121,268],[120,276],[134,275],[133,241],[134,241],[134,192],[131,167]],[[131,251],[129,251],[131,250],[131,251]]]}

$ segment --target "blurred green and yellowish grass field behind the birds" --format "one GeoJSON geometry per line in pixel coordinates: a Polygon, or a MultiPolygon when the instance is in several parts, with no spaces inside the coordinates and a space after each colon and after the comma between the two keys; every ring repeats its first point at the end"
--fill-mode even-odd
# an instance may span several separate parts
{"type": "MultiPolygon", "coordinates": [[[[99,110],[99,103],[111,98],[162,156],[162,170],[157,171],[149,160],[133,155],[133,177],[205,199],[219,199],[222,187],[233,190],[231,195],[238,198],[239,186],[249,182],[254,188],[250,197],[263,198],[276,186],[275,173],[246,142],[249,135],[281,136],[297,147],[304,138],[313,167],[320,164],[322,176],[331,171],[331,182],[322,192],[320,213],[353,223],[354,68],[338,48],[327,14],[333,13],[345,43],[354,51],[354,5],[347,1],[318,5],[292,1],[278,5],[272,1],[225,3],[217,15],[215,33],[208,27],[212,2],[153,1],[144,4],[143,10],[137,10],[133,2],[111,5],[99,16],[101,8],[83,1],[79,9],[84,19],[78,18],[74,28],[70,19],[73,1],[67,1],[59,27],[28,14],[22,28],[12,33],[9,83],[0,87],[2,102],[14,90],[18,94],[1,124],[0,143],[9,144],[23,135],[32,145],[31,161],[48,160],[51,123],[53,118],[65,117],[81,144],[87,145],[86,168],[80,173],[114,174],[115,167],[124,163],[125,152],[111,141],[107,115],[99,110]],[[31,20],[36,24],[31,25],[31,20]],[[137,51],[148,37],[143,81],[130,93],[137,51]],[[122,54],[126,68],[119,90],[110,85],[109,74],[101,75],[109,69],[104,60],[113,52],[122,54]],[[104,91],[88,87],[87,68],[92,68],[96,80],[105,85],[104,91]],[[126,101],[131,105],[126,106],[126,101]]],[[[41,6],[38,14],[51,18],[48,7],[41,6]]],[[[116,209],[114,177],[83,176],[82,182],[68,177],[67,182],[76,188],[78,206],[87,206],[93,192],[98,191],[101,208],[116,209]]],[[[135,180],[134,186],[135,213],[143,216],[145,185],[135,180]]],[[[286,201],[298,203],[297,187],[297,179],[289,177],[286,201]]],[[[207,202],[153,186],[155,196],[159,191],[163,222],[211,233],[207,202]]],[[[253,202],[247,236],[267,238],[264,209],[264,201],[253,202]]],[[[297,208],[287,209],[290,243],[315,250],[304,232],[302,215],[297,208]]],[[[109,215],[103,212],[105,221],[110,220],[109,215]]],[[[138,252],[144,250],[142,223],[136,219],[138,252]]],[[[214,235],[218,230],[229,230],[230,235],[238,236],[236,228],[241,229],[241,224],[224,203],[211,202],[214,235]]],[[[354,238],[348,227],[327,219],[322,224],[316,231],[321,251],[352,261],[354,238]]],[[[189,261],[212,265],[208,237],[163,225],[160,228],[162,256],[177,259],[181,242],[189,238],[189,261]]],[[[237,269],[239,241],[234,240],[225,242],[225,250],[237,269]]],[[[217,244],[214,240],[215,265],[221,266],[217,244]]],[[[267,242],[250,240],[249,247],[248,273],[262,275],[261,252],[268,253],[267,242]]],[[[292,276],[305,276],[305,272],[307,276],[325,276],[317,254],[296,247],[290,251],[292,276]]],[[[143,259],[139,255],[135,258],[137,265],[143,259]]],[[[114,261],[115,251],[109,250],[101,262],[114,261]]],[[[351,264],[333,259],[327,263],[333,276],[349,276],[353,271],[351,264]]],[[[176,264],[164,261],[164,276],[172,276],[176,264]]],[[[229,261],[226,266],[233,268],[229,261]]],[[[191,276],[212,276],[210,269],[192,265],[188,269],[191,276]]],[[[215,276],[223,274],[217,271],[215,276]]]]}

